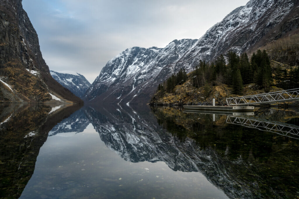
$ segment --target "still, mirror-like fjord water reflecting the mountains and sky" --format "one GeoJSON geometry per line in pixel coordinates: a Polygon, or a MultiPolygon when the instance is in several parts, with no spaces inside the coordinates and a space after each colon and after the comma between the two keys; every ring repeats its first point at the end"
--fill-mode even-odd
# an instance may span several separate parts
{"type": "Polygon", "coordinates": [[[1,106],[0,197],[299,195],[299,136],[254,128],[266,121],[296,129],[298,109],[235,116],[140,105],[79,108],[1,106]]]}

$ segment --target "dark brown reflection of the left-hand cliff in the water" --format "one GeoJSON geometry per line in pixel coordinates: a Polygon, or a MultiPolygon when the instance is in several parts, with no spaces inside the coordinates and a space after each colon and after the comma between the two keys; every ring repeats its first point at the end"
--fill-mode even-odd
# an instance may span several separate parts
{"type": "Polygon", "coordinates": [[[0,198],[20,197],[48,132],[79,108],[69,104],[0,104],[0,198]]]}

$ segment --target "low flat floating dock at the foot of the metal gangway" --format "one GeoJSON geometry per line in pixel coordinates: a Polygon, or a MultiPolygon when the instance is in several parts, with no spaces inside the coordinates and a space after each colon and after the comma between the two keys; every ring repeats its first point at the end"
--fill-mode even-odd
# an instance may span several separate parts
{"type": "Polygon", "coordinates": [[[200,112],[253,112],[253,106],[184,106],[185,111],[200,112]]]}

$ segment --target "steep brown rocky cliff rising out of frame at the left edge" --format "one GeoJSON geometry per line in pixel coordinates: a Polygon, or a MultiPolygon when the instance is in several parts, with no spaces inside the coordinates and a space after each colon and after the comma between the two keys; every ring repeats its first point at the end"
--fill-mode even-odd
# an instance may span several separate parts
{"type": "Polygon", "coordinates": [[[22,0],[0,1],[0,79],[0,101],[82,102],[51,77],[22,0]]]}

